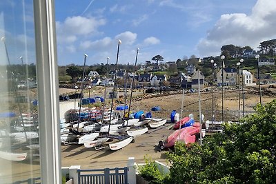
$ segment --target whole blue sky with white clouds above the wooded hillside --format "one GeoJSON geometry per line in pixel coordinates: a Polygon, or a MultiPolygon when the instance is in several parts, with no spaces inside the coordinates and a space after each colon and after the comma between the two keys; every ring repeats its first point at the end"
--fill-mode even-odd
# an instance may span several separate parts
{"type": "MultiPolygon", "coordinates": [[[[21,1],[24,8],[16,0],[8,2],[0,1],[0,26],[3,17],[5,36],[17,32],[17,37],[6,39],[8,48],[14,49],[12,40],[18,40],[14,53],[29,57],[31,63],[35,55],[32,1],[21,1]],[[25,9],[25,23],[9,25],[5,6],[13,12],[25,9]]],[[[227,44],[258,50],[262,41],[276,39],[275,0],[57,0],[55,19],[58,65],[83,65],[83,54],[88,55],[87,65],[106,63],[107,57],[115,63],[118,39],[120,64],[134,64],[137,48],[137,63],[158,54],[166,62],[191,55],[217,56],[227,44]]]]}

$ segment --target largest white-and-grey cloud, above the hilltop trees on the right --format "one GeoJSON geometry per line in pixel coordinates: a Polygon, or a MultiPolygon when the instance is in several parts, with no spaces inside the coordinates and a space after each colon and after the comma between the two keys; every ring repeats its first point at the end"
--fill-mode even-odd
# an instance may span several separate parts
{"type": "Polygon", "coordinates": [[[258,0],[251,14],[222,14],[207,37],[197,44],[201,57],[219,54],[222,45],[249,45],[255,49],[259,43],[276,37],[276,3],[258,0]]]}

